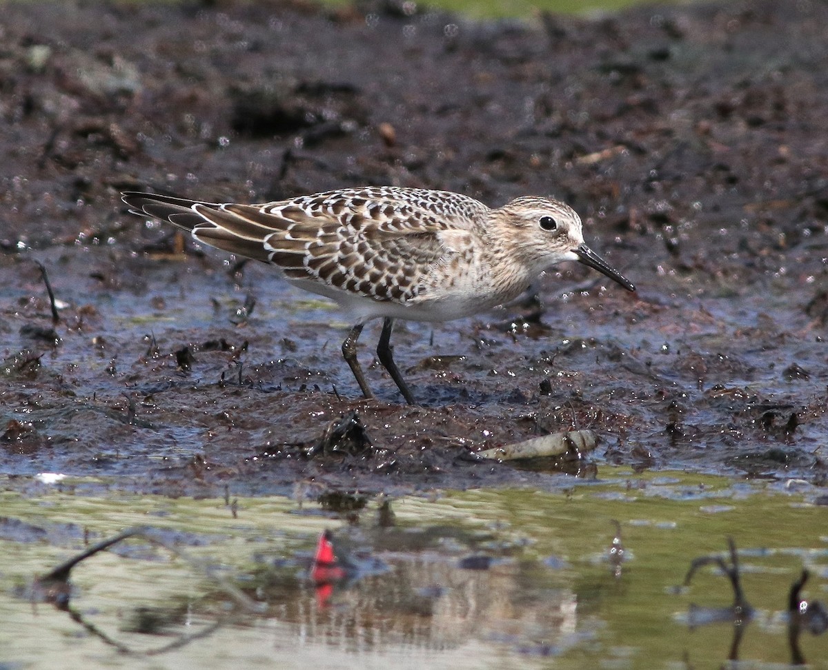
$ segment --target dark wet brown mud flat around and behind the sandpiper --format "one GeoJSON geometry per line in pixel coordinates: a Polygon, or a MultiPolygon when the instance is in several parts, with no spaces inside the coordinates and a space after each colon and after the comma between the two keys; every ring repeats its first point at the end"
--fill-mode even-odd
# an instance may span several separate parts
{"type": "Polygon", "coordinates": [[[588,473],[826,481],[826,3],[536,25],[295,2],[3,14],[0,471],[168,495],[552,486],[469,452],[592,428],[588,473]],[[566,266],[537,299],[404,325],[422,406],[376,365],[367,402],[342,315],[118,199],[363,184],[556,196],[638,293],[566,266]],[[306,458],[355,409],[371,444],[306,458]]]}

